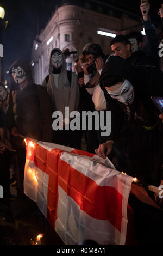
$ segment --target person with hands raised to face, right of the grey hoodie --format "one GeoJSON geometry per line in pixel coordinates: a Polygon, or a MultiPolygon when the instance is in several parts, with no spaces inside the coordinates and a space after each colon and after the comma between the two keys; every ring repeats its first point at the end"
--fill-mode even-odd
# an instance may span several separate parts
{"type": "MultiPolygon", "coordinates": [[[[82,52],[86,59],[84,70],[84,83],[87,92],[92,95],[92,101],[94,103],[93,111],[97,111],[99,116],[101,112],[104,112],[104,123],[106,124],[106,100],[103,91],[99,86],[99,77],[106,62],[107,56],[104,55],[101,46],[98,44],[90,43],[85,45],[82,52]]],[[[87,140],[91,138],[98,138],[98,144],[102,144],[106,141],[106,137],[101,136],[101,124],[99,123],[99,130],[86,131],[87,140]]]]}

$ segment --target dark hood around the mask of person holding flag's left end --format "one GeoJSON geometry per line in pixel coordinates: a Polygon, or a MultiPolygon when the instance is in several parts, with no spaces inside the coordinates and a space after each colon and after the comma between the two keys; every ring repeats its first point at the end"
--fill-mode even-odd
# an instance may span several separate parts
{"type": "Polygon", "coordinates": [[[11,81],[11,89],[13,88],[17,88],[17,84],[15,83],[13,77],[12,77],[12,68],[17,68],[18,66],[21,66],[21,68],[24,70],[24,72],[26,72],[26,76],[27,76],[27,80],[28,80],[28,84],[32,84],[33,83],[33,79],[32,79],[32,70],[30,68],[30,65],[24,61],[24,60],[16,60],[16,62],[14,62],[9,69],[9,75],[10,75],[10,81],[11,81]]]}

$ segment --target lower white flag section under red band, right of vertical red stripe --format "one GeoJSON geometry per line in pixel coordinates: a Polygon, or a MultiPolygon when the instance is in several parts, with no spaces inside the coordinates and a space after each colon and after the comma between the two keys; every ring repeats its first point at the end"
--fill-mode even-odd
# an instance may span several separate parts
{"type": "Polygon", "coordinates": [[[126,237],[109,222],[97,220],[80,210],[79,205],[59,186],[55,229],[65,245],[91,239],[99,245],[124,245],[126,237]]]}

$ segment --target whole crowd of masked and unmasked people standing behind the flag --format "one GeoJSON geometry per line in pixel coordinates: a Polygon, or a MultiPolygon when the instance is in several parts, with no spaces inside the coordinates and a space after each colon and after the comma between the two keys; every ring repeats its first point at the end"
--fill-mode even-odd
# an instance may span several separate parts
{"type": "MultiPolygon", "coordinates": [[[[17,196],[24,199],[23,177],[26,161],[24,137],[81,149],[83,133],[87,151],[102,158],[117,159],[117,170],[137,177],[144,184],[163,184],[163,114],[152,96],[163,96],[163,73],[159,57],[160,36],[149,17],[150,4],[142,1],[146,37],[132,31],[111,41],[112,54],[87,44],[75,62],[75,71],[66,69],[66,54],[51,52],[49,74],[42,85],[33,83],[30,66],[17,60],[10,66],[10,92],[0,84],[0,185],[4,188],[1,209],[8,209],[10,164],[15,163],[17,196]],[[65,107],[72,111],[111,111],[111,135],[90,131],[52,129],[53,112],[65,107]],[[16,160],[15,160],[16,159],[16,160]]],[[[163,19],[163,5],[159,9],[163,19]]],[[[163,36],[162,36],[163,38],[163,36]]],[[[109,50],[109,45],[108,45],[109,50]]],[[[67,51],[66,51],[67,53],[67,51]]],[[[162,206],[162,200],[156,200],[162,206]]],[[[5,219],[5,216],[4,216],[5,219]]]]}

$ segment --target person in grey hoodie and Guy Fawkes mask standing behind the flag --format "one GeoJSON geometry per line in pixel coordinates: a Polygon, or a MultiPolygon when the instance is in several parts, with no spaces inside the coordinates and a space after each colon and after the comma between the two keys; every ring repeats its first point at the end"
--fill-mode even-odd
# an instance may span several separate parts
{"type": "Polygon", "coordinates": [[[58,125],[53,132],[53,143],[80,149],[80,131],[65,130],[70,120],[65,118],[65,107],[69,107],[69,113],[80,111],[80,93],[78,76],[66,69],[64,53],[54,48],[50,56],[49,75],[43,80],[43,86],[51,98],[53,111],[60,111],[63,114],[62,124],[58,125]]]}

